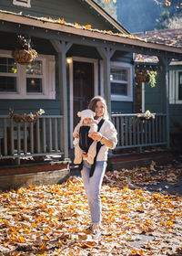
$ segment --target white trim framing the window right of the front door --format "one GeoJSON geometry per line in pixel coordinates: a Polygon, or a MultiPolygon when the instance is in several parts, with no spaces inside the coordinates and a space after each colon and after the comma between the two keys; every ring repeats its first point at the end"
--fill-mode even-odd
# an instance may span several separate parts
{"type": "MultiPolygon", "coordinates": [[[[133,80],[132,80],[132,65],[125,62],[111,62],[110,64],[111,69],[113,68],[123,68],[127,69],[127,81],[128,81],[128,87],[127,87],[127,95],[114,95],[111,94],[111,101],[133,101],[133,80]]],[[[110,81],[112,82],[112,81],[110,81]]],[[[118,82],[118,81],[116,81],[118,82]]]]}

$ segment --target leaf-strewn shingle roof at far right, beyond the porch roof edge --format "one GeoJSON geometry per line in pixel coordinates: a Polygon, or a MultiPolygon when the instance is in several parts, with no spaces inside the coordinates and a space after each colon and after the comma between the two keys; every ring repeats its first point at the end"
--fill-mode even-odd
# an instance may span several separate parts
{"type": "Polygon", "coordinates": [[[182,29],[162,29],[133,34],[146,39],[147,42],[165,44],[170,47],[182,47],[182,29]]]}

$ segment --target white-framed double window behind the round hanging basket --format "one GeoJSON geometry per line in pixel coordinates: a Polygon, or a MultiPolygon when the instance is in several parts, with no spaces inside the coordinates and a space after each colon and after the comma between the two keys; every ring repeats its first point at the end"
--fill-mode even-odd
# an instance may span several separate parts
{"type": "Polygon", "coordinates": [[[19,65],[11,52],[1,50],[0,99],[56,99],[55,57],[39,55],[19,65]]]}

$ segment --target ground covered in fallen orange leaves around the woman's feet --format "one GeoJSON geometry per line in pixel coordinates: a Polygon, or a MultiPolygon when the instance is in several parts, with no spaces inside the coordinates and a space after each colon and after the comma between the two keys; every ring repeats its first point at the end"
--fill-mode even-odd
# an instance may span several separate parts
{"type": "Polygon", "coordinates": [[[161,182],[175,187],[182,165],[154,164],[106,173],[99,240],[86,231],[90,216],[79,177],[2,192],[0,255],[182,255],[182,197],[160,188],[161,182]]]}

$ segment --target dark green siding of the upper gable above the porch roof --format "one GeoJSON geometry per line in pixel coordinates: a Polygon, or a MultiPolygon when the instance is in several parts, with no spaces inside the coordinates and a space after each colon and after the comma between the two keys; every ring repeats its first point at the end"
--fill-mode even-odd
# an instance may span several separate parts
{"type": "Polygon", "coordinates": [[[23,15],[64,18],[68,23],[89,24],[93,28],[118,32],[106,19],[96,14],[93,8],[80,0],[31,0],[31,7],[13,5],[12,2],[1,0],[1,9],[22,12],[23,15]]]}

